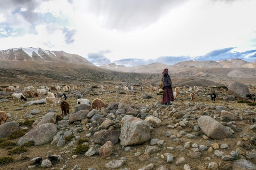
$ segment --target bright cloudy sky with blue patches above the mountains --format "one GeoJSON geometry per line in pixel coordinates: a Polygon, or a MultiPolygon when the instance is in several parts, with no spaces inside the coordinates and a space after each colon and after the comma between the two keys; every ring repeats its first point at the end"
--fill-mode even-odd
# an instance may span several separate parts
{"type": "Polygon", "coordinates": [[[256,60],[256,0],[0,0],[0,50],[42,48],[95,65],[256,60]]]}

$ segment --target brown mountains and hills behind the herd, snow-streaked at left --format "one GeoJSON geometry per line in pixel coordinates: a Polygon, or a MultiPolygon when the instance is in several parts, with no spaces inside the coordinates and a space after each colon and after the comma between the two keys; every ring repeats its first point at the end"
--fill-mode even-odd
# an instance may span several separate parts
{"type": "Polygon", "coordinates": [[[169,68],[173,84],[177,85],[223,85],[240,80],[256,82],[256,61],[190,60],[175,65],[151,63],[126,67],[111,63],[98,67],[76,54],[32,47],[0,50],[0,68],[2,83],[64,81],[157,85],[164,68],[169,68]]]}

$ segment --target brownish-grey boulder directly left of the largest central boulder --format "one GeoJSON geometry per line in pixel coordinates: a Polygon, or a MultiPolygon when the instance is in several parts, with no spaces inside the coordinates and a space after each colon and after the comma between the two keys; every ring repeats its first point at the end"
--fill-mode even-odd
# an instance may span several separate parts
{"type": "Polygon", "coordinates": [[[93,135],[93,141],[94,143],[104,145],[107,141],[111,141],[112,144],[116,144],[119,141],[120,136],[120,130],[105,130],[102,129],[100,131],[97,131],[93,135]]]}

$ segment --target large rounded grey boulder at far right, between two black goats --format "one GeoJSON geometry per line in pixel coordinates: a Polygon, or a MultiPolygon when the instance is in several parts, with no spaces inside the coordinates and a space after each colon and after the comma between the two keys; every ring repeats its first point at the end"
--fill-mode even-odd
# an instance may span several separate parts
{"type": "Polygon", "coordinates": [[[247,99],[246,94],[249,94],[250,91],[245,84],[235,82],[229,85],[227,93],[232,94],[239,99],[247,99]]]}

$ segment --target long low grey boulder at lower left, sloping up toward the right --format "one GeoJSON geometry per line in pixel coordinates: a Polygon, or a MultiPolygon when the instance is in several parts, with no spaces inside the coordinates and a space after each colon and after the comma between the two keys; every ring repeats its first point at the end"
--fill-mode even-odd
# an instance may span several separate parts
{"type": "Polygon", "coordinates": [[[57,125],[46,123],[40,126],[35,127],[34,129],[27,132],[24,136],[22,136],[17,145],[21,146],[24,143],[29,141],[34,141],[35,146],[43,145],[49,143],[53,140],[53,137],[58,132],[57,125]]]}

